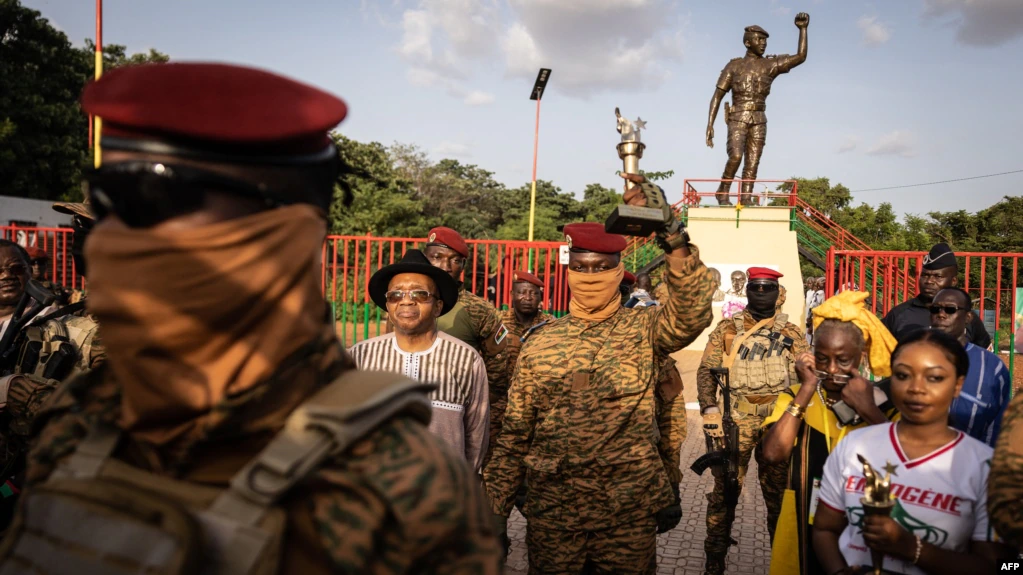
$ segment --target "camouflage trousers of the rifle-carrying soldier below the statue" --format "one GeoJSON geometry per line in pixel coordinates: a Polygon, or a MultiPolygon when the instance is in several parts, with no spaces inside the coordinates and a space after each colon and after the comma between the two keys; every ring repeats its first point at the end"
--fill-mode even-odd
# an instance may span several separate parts
{"type": "MultiPolygon", "coordinates": [[[[789,480],[789,461],[770,465],[763,460],[760,452],[760,439],[764,430],[761,428],[763,417],[746,415],[736,422],[739,425],[739,489],[742,491],[746,479],[746,469],[750,455],[754,454],[757,461],[757,476],[760,479],[760,489],[763,491],[764,503],[767,505],[767,531],[771,541],[774,540],[774,525],[782,513],[782,496],[789,480]]],[[[724,504],[724,482],[720,474],[714,470],[714,490],[707,494],[707,539],[704,540],[704,552],[707,557],[723,557],[728,552],[727,506],[724,504]]]]}

